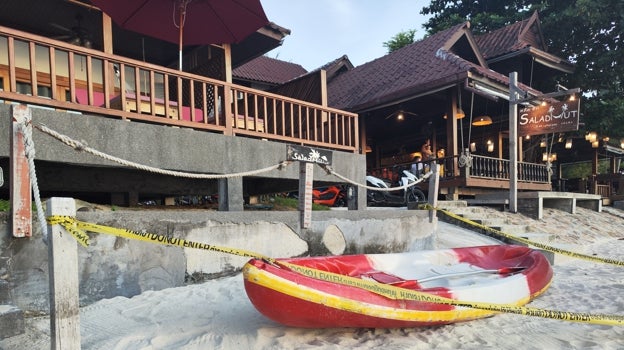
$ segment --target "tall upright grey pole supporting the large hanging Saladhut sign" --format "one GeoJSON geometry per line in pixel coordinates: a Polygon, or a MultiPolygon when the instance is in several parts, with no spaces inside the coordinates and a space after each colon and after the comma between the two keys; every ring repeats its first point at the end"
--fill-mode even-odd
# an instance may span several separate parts
{"type": "Polygon", "coordinates": [[[509,211],[518,212],[518,73],[509,73],[509,211]]]}

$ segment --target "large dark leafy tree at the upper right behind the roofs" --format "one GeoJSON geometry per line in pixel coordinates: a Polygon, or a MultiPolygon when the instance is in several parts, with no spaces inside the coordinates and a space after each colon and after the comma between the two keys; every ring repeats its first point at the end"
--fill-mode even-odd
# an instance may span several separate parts
{"type": "Polygon", "coordinates": [[[422,9],[432,17],[423,26],[433,34],[470,21],[479,34],[538,11],[548,52],[576,64],[560,83],[584,92],[584,129],[624,137],[624,2],[621,0],[431,0],[422,9]]]}

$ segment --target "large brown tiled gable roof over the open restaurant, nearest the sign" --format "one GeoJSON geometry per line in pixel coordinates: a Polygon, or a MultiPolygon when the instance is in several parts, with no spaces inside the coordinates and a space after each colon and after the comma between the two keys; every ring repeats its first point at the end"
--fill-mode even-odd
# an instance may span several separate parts
{"type": "Polygon", "coordinates": [[[446,89],[473,73],[508,83],[487,68],[465,22],[337,76],[327,87],[328,104],[362,112],[446,89]]]}

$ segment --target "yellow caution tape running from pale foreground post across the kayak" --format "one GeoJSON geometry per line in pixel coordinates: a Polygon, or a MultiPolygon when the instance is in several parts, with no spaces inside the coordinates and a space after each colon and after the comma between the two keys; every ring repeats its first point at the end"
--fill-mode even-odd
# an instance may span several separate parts
{"type": "MultiPolygon", "coordinates": [[[[297,273],[306,275],[311,278],[325,280],[332,283],[337,283],[345,286],[352,286],[356,288],[361,288],[367,290],[369,292],[382,295],[391,299],[400,299],[400,300],[414,300],[420,302],[429,302],[429,303],[437,303],[437,304],[445,304],[445,305],[453,305],[453,306],[461,306],[461,307],[470,307],[474,309],[481,310],[489,310],[496,312],[504,312],[504,313],[513,313],[519,315],[527,315],[527,316],[536,316],[542,318],[551,318],[557,320],[564,321],[572,321],[572,322],[582,322],[582,323],[590,323],[590,324],[600,324],[600,325],[610,325],[610,326],[622,326],[624,325],[624,316],[617,315],[603,315],[603,314],[589,314],[589,313],[580,313],[580,312],[566,312],[566,311],[555,311],[555,310],[546,310],[546,309],[538,309],[538,308],[528,308],[522,306],[514,306],[514,305],[503,305],[503,304],[490,304],[484,302],[470,302],[470,301],[459,301],[449,298],[440,297],[437,295],[418,292],[414,290],[404,289],[400,287],[395,287],[392,285],[387,285],[375,281],[363,280],[360,278],[345,276],[341,274],[336,274],[328,271],[321,271],[317,269],[312,269],[300,265],[290,264],[283,261],[278,261],[276,259],[264,256],[262,254],[254,253],[247,250],[242,249],[233,249],[228,247],[221,247],[216,245],[211,245],[207,243],[198,243],[193,241],[188,241],[181,238],[169,237],[156,233],[147,233],[147,232],[138,232],[132,230],[125,230],[114,228],[110,226],[92,224],[87,222],[82,222],[76,220],[70,216],[49,216],[47,218],[48,223],[50,225],[61,225],[65,228],[71,235],[73,235],[80,244],[83,246],[89,245],[88,235],[84,231],[96,232],[96,233],[105,233],[111,234],[118,237],[128,238],[128,239],[136,239],[144,242],[151,242],[162,245],[172,245],[183,248],[194,248],[194,249],[203,249],[227,254],[233,254],[242,257],[255,258],[264,260],[270,264],[285,267],[297,273]]],[[[545,291],[542,290],[538,294],[541,294],[545,291]]]]}

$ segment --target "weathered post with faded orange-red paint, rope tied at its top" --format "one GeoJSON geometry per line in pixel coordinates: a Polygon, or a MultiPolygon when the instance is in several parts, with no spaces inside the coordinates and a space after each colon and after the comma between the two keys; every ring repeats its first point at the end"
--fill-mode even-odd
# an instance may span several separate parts
{"type": "Polygon", "coordinates": [[[13,105],[11,118],[11,231],[13,237],[32,236],[32,197],[30,191],[30,172],[24,135],[20,124],[30,123],[32,115],[26,105],[13,105]]]}

